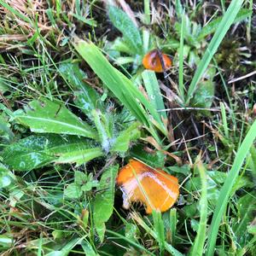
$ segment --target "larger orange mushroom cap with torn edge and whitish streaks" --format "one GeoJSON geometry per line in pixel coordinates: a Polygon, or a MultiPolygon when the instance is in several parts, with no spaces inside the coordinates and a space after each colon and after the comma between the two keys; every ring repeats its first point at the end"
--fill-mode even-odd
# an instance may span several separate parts
{"type": "Polygon", "coordinates": [[[119,170],[117,184],[123,192],[125,209],[130,207],[131,202],[140,201],[148,214],[153,210],[166,212],[179,195],[177,177],[138,160],[130,160],[128,165],[119,170]]]}

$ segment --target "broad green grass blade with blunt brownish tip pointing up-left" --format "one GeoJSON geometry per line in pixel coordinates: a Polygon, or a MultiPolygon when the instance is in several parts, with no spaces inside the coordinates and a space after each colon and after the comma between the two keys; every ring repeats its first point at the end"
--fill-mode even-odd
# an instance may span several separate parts
{"type": "Polygon", "coordinates": [[[79,40],[75,42],[74,46],[108,89],[125,105],[125,108],[128,108],[143,125],[152,127],[152,122],[150,122],[152,118],[145,111],[147,109],[154,122],[158,124],[157,127],[166,135],[166,127],[154,106],[131,83],[130,79],[127,79],[108,62],[96,45],[79,40]]]}

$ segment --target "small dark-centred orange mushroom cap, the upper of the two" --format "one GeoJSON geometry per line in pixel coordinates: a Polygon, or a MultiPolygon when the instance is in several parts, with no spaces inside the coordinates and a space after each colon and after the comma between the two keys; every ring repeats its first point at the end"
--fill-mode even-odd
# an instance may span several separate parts
{"type": "Polygon", "coordinates": [[[143,66],[156,73],[163,73],[172,67],[172,61],[168,55],[162,54],[159,49],[153,49],[144,55],[143,66]]]}

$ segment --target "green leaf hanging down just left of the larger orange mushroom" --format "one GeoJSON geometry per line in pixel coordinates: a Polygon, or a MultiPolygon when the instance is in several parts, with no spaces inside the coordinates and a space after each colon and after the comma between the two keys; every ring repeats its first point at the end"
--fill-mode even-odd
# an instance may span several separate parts
{"type": "Polygon", "coordinates": [[[119,166],[111,166],[103,172],[99,192],[93,202],[93,220],[101,241],[104,240],[105,223],[113,212],[114,185],[118,170],[119,166]]]}

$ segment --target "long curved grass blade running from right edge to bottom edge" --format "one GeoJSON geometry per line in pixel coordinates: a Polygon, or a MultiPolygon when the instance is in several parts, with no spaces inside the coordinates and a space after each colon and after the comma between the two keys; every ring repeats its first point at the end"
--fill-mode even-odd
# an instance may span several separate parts
{"type": "Polygon", "coordinates": [[[208,237],[208,245],[207,245],[207,256],[213,255],[214,247],[216,243],[216,239],[218,236],[218,227],[223,217],[224,209],[227,206],[229,201],[230,193],[234,183],[236,182],[236,177],[241,169],[243,161],[245,160],[250,148],[253,145],[253,141],[256,137],[256,121],[253,122],[252,127],[247,132],[247,136],[244,138],[243,142],[241,143],[240,148],[236,154],[236,158],[234,160],[234,164],[229,172],[228,177],[224,182],[224,185],[219,193],[219,200],[218,204],[215,208],[212,217],[212,223],[209,231],[208,237]]]}

